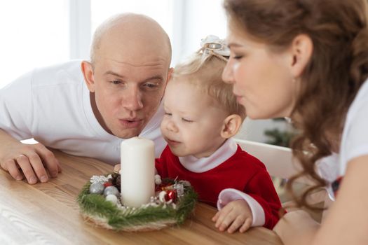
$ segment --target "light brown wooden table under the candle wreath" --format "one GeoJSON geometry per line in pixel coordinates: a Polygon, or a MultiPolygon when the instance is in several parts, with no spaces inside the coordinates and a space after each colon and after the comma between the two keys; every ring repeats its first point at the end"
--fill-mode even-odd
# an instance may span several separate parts
{"type": "Polygon", "coordinates": [[[181,227],[133,233],[95,228],[79,215],[76,196],[90,176],[112,172],[113,167],[54,153],[62,173],[48,183],[31,186],[0,171],[0,244],[282,244],[266,228],[245,234],[218,232],[211,221],[216,209],[201,203],[181,227]]]}

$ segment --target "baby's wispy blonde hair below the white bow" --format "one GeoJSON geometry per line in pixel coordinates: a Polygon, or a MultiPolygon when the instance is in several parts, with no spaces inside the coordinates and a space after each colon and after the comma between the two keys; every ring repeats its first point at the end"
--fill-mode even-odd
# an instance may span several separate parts
{"type": "Polygon", "coordinates": [[[177,78],[185,78],[188,83],[198,86],[210,95],[219,106],[229,112],[229,115],[237,114],[244,120],[245,109],[236,101],[233,86],[222,80],[225,60],[226,58],[220,58],[212,53],[196,52],[186,62],[175,66],[170,82],[175,82],[177,78]]]}

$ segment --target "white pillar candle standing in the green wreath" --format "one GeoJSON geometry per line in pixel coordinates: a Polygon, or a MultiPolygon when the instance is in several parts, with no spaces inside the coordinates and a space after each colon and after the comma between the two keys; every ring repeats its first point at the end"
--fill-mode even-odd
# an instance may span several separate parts
{"type": "Polygon", "coordinates": [[[155,193],[154,141],[133,137],[121,142],[121,202],[128,207],[149,203],[155,193]]]}

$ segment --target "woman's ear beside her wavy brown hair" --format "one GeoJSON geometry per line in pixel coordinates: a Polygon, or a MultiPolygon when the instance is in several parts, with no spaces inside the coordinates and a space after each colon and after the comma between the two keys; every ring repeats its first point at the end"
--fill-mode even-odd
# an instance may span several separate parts
{"type": "Polygon", "coordinates": [[[291,45],[291,71],[292,76],[301,76],[313,53],[313,41],[306,34],[299,34],[294,38],[291,45]]]}

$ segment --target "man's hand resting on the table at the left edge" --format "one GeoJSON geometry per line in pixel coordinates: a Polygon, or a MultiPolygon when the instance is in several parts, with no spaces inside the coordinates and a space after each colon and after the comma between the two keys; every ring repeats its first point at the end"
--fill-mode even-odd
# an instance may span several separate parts
{"type": "Polygon", "coordinates": [[[61,167],[55,155],[42,144],[22,144],[19,141],[7,142],[1,148],[0,166],[20,181],[23,174],[29,184],[47,182],[49,176],[55,178],[61,167]]]}

